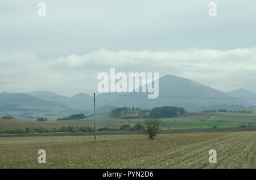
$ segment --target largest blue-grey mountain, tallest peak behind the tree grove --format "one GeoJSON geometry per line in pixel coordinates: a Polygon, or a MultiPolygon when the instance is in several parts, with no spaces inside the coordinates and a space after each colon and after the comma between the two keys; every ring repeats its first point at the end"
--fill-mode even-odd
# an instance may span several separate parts
{"type": "MultiPolygon", "coordinates": [[[[118,93],[115,93],[118,95],[118,93]]],[[[232,99],[233,97],[203,85],[193,80],[174,75],[165,75],[159,78],[159,97],[147,98],[147,93],[127,93],[111,101],[113,106],[134,106],[151,109],[156,106],[179,106],[188,112],[205,110],[212,105],[247,105],[244,100],[232,99]],[[132,96],[130,96],[132,95],[132,96]],[[182,98],[180,98],[182,97],[182,98]]]]}

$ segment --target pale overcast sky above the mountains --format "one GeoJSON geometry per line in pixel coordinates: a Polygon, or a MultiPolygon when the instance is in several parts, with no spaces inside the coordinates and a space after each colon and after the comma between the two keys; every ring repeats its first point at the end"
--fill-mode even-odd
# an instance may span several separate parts
{"type": "Polygon", "coordinates": [[[1,0],[0,92],[92,93],[97,75],[112,67],[256,92],[255,7],[253,0],[1,0]],[[217,16],[209,16],[210,2],[217,16]]]}

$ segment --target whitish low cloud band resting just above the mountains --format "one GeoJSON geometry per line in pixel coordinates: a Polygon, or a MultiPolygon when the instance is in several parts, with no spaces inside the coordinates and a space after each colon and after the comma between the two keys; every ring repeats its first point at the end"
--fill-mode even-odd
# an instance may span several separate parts
{"type": "MultiPolygon", "coordinates": [[[[41,59],[33,53],[0,53],[0,91],[53,91],[61,95],[97,90],[97,75],[117,72],[159,72],[196,80],[232,91],[256,92],[256,48],[233,50],[188,49],[171,51],[96,52],[41,59]]],[[[161,88],[161,87],[159,87],[161,88]]]]}

